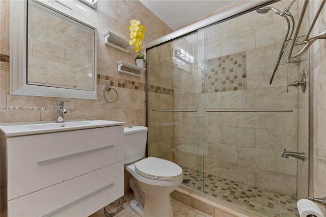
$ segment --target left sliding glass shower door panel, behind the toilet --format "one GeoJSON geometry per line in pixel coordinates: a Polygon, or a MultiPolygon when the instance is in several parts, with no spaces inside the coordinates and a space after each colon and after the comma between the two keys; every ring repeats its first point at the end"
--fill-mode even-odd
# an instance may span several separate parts
{"type": "Polygon", "coordinates": [[[183,183],[193,189],[198,188],[198,173],[203,171],[198,157],[201,77],[197,35],[190,34],[147,51],[148,155],[182,167],[183,183]]]}

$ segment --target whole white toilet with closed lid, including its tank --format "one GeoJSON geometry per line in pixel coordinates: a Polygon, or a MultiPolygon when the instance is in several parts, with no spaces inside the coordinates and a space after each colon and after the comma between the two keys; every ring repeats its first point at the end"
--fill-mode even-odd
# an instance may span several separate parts
{"type": "Polygon", "coordinates": [[[182,169],[169,160],[144,158],[147,131],[144,126],[124,127],[125,168],[133,176],[130,208],[141,216],[173,216],[170,193],[181,184],[182,169]]]}

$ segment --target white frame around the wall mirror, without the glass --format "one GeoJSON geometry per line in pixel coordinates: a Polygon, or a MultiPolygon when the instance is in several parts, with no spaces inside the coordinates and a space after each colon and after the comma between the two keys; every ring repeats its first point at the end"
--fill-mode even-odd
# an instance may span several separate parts
{"type": "MultiPolygon", "coordinates": [[[[28,0],[32,1],[32,0],[28,0]]],[[[34,1],[34,0],[33,0],[34,1]]],[[[27,1],[10,1],[10,94],[77,99],[97,99],[97,29],[39,1],[34,1],[70,19],[94,29],[94,90],[75,90],[27,84],[27,1]]]]}

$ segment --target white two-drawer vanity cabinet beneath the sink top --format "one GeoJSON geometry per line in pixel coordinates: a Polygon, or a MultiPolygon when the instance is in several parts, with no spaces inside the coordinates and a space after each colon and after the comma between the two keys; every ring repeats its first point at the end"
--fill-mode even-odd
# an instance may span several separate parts
{"type": "Polygon", "coordinates": [[[122,124],[15,137],[2,132],[8,216],[88,216],[123,196],[122,124]]]}

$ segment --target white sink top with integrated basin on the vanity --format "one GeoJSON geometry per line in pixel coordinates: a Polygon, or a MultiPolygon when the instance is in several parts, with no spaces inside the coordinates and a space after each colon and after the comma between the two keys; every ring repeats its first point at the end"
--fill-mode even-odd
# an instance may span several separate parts
{"type": "Polygon", "coordinates": [[[7,137],[18,135],[40,134],[48,132],[60,132],[76,129],[89,129],[106,126],[123,125],[124,122],[105,120],[75,120],[63,123],[33,122],[33,123],[8,123],[1,124],[0,128],[7,137]]]}

